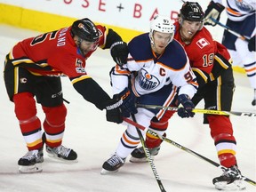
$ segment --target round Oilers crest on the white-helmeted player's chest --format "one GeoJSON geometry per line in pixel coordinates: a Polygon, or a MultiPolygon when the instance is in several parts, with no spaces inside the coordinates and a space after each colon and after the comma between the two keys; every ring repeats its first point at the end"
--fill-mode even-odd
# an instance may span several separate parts
{"type": "Polygon", "coordinates": [[[140,87],[144,90],[153,90],[160,84],[156,76],[148,74],[148,71],[145,69],[141,69],[138,78],[140,87]]]}

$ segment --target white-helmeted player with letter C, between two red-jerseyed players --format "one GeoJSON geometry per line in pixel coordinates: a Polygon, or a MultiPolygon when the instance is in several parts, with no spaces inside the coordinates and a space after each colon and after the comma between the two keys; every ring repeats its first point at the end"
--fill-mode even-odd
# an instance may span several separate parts
{"type": "MultiPolygon", "coordinates": [[[[130,89],[137,103],[168,107],[177,101],[183,106],[180,109],[183,113],[195,115],[190,98],[197,91],[196,76],[183,47],[173,39],[174,32],[175,26],[169,17],[156,15],[150,23],[150,32],[132,39],[128,44],[127,63],[116,65],[110,73],[114,95],[130,89]]],[[[135,108],[135,103],[130,105],[123,116],[135,114],[136,121],[145,127],[149,126],[152,117],[161,117],[165,112],[163,109],[135,108]]],[[[145,135],[146,131],[140,132],[145,135]]],[[[139,144],[136,128],[127,124],[114,155],[102,165],[101,174],[117,172],[139,144]]]]}

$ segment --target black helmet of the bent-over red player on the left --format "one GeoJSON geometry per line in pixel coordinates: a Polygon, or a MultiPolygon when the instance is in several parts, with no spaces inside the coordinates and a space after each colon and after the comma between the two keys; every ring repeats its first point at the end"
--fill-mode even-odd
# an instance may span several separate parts
{"type": "Polygon", "coordinates": [[[98,28],[88,18],[76,20],[71,27],[71,34],[88,42],[97,42],[100,39],[98,28]]]}

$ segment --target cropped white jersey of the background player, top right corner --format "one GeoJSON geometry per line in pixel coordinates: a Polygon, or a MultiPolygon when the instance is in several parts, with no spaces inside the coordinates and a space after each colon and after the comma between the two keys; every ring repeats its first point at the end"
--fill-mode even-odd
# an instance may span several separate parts
{"type": "Polygon", "coordinates": [[[226,7],[228,19],[234,21],[244,20],[246,17],[255,13],[255,0],[213,0],[214,3],[222,4],[226,7]]]}

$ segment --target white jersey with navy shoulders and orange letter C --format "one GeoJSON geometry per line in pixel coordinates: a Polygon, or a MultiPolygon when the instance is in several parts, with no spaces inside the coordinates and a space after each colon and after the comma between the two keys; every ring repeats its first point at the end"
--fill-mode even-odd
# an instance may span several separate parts
{"type": "Polygon", "coordinates": [[[132,91],[137,97],[157,92],[167,84],[180,87],[179,94],[188,94],[190,98],[196,93],[198,84],[192,72],[183,47],[173,40],[165,51],[156,56],[151,49],[148,33],[136,36],[128,44],[127,64],[122,68],[116,65],[111,72],[113,93],[119,93],[128,86],[128,77],[132,78],[132,91]]]}

